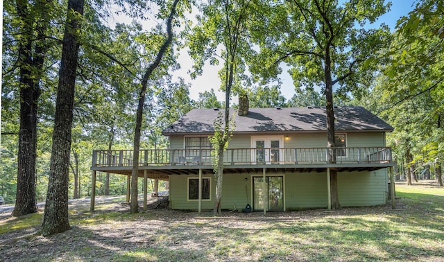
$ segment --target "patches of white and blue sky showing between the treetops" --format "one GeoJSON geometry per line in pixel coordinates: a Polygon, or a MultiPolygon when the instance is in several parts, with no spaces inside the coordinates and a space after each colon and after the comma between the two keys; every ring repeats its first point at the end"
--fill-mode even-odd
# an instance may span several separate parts
{"type": "MultiPolygon", "coordinates": [[[[375,26],[385,23],[393,31],[396,26],[396,21],[398,21],[398,19],[400,19],[402,16],[407,16],[408,13],[413,10],[416,0],[392,0],[391,2],[391,10],[379,17],[378,21],[375,22],[375,26]]],[[[221,67],[207,64],[203,69],[202,76],[198,76],[198,78],[192,80],[187,73],[189,69],[191,69],[192,61],[190,60],[186,51],[182,51],[180,54],[179,62],[181,69],[180,71],[176,71],[174,74],[184,78],[185,82],[191,83],[191,88],[189,90],[191,99],[198,100],[199,93],[209,91],[212,88],[216,92],[216,96],[218,97],[219,101],[223,101],[225,99],[225,95],[219,91],[221,81],[219,80],[217,72],[221,67]]],[[[280,91],[285,98],[289,99],[295,94],[293,80],[291,80],[291,76],[286,70],[283,70],[280,78],[282,80],[280,91]]],[[[232,103],[237,103],[237,98],[233,98],[232,103]]]]}

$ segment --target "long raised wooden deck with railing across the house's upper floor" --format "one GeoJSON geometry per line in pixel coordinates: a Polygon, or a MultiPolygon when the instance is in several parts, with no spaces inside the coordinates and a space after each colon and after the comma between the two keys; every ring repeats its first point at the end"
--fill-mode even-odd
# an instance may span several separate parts
{"type": "MultiPolygon", "coordinates": [[[[212,173],[209,149],[139,150],[139,177],[167,180],[169,175],[212,173]]],[[[235,148],[224,155],[225,173],[302,173],[374,171],[393,166],[391,148],[235,148]],[[328,161],[332,152],[336,161],[328,161]]],[[[94,150],[92,171],[130,175],[133,150],[94,150]]]]}

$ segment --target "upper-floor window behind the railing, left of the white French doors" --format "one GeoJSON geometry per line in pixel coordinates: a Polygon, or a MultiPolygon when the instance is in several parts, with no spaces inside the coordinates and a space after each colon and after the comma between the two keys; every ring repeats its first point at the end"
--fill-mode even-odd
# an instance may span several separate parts
{"type": "Polygon", "coordinates": [[[187,162],[208,162],[211,159],[211,143],[208,137],[185,137],[187,162]]]}

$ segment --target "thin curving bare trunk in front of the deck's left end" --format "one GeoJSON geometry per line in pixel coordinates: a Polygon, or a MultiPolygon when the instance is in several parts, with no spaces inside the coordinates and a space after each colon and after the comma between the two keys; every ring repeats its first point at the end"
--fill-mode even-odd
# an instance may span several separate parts
{"type": "Polygon", "coordinates": [[[140,149],[140,129],[142,127],[142,115],[144,112],[144,103],[145,103],[145,94],[146,88],[148,85],[148,80],[151,77],[151,73],[153,73],[154,69],[159,66],[164,53],[167,51],[168,46],[173,41],[173,31],[171,22],[173,21],[173,17],[176,15],[176,6],[179,0],[174,0],[173,5],[171,6],[171,12],[167,19],[167,40],[165,40],[164,44],[160,47],[159,52],[153,62],[150,64],[148,69],[144,74],[144,78],[142,79],[142,89],[139,94],[139,103],[137,105],[137,118],[136,118],[136,127],[134,133],[134,141],[133,141],[133,170],[131,172],[131,203],[130,203],[130,212],[138,213],[139,212],[139,203],[137,199],[137,175],[139,174],[139,149],[140,149]]]}

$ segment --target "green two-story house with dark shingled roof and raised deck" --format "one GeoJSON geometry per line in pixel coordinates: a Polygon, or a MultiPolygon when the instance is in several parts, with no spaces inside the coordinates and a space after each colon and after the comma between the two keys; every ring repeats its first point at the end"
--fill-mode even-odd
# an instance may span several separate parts
{"type": "MultiPolygon", "coordinates": [[[[293,211],[330,207],[330,171],[338,171],[342,207],[386,204],[393,166],[386,132],[364,107],[335,107],[336,147],[327,148],[325,107],[240,108],[224,155],[222,209],[293,211]],[[336,161],[328,161],[333,150],[336,161]]],[[[172,209],[212,209],[211,144],[223,110],[191,110],[166,128],[169,148],[141,150],[141,177],[169,180],[172,209]],[[200,189],[200,190],[199,190],[200,189]]],[[[93,152],[93,171],[130,175],[130,150],[93,152]]]]}

